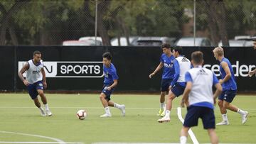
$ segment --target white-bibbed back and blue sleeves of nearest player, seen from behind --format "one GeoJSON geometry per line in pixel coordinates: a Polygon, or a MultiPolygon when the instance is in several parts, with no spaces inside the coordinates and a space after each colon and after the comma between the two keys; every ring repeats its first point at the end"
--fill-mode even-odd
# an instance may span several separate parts
{"type": "Polygon", "coordinates": [[[192,89],[188,97],[190,105],[201,102],[213,104],[213,81],[218,82],[213,72],[201,66],[194,67],[186,73],[186,79],[191,78],[192,89]]]}

